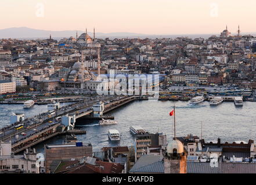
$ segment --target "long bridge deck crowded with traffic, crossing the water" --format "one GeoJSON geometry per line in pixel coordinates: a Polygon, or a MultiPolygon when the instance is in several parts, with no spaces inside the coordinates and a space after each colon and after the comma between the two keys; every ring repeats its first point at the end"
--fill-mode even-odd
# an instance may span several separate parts
{"type": "MultiPolygon", "coordinates": [[[[67,133],[67,128],[62,124],[62,120],[56,120],[56,117],[64,115],[73,116],[75,119],[82,119],[84,116],[93,117],[93,105],[95,105],[95,103],[107,102],[103,111],[103,113],[107,113],[125,105],[126,103],[134,101],[135,99],[135,96],[101,96],[89,98],[81,102],[64,106],[61,109],[56,110],[55,114],[51,117],[48,116],[47,112],[41,113],[38,116],[35,116],[38,119],[34,124],[31,124],[32,118],[30,118],[2,128],[0,139],[3,142],[11,141],[13,153],[18,153],[27,147],[36,145],[46,139],[52,138],[53,136],[67,133]],[[23,128],[16,130],[15,125],[17,124],[23,124],[23,128]],[[22,132],[26,133],[26,135],[21,135],[22,132]],[[19,138],[15,138],[16,135],[19,135],[19,138]]],[[[73,124],[75,124],[75,121],[73,124]]]]}

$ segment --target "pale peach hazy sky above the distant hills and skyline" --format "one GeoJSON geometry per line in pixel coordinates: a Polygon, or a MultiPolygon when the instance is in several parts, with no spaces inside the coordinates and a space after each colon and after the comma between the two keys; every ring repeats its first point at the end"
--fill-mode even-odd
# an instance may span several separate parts
{"type": "Polygon", "coordinates": [[[0,29],[212,34],[256,32],[255,0],[0,0],[0,29]]]}

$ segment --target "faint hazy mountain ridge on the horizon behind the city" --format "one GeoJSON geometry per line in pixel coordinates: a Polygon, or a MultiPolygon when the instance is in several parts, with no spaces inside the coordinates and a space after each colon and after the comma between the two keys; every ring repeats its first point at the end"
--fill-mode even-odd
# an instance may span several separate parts
{"type": "MultiPolygon", "coordinates": [[[[78,36],[80,36],[85,31],[78,31],[78,36]]],[[[66,31],[49,31],[49,30],[42,30],[42,29],[33,29],[27,27],[13,27],[13,28],[5,28],[0,29],[0,39],[1,38],[49,38],[50,34],[52,38],[60,39],[60,38],[69,38],[70,36],[76,36],[76,30],[66,30],[66,31]]],[[[88,32],[89,35],[93,36],[92,32],[88,32]]],[[[244,34],[252,34],[256,35],[255,32],[253,33],[244,33],[244,34]]],[[[102,33],[96,32],[96,38],[176,38],[180,36],[188,36],[190,38],[209,38],[212,35],[219,35],[219,34],[173,34],[173,35],[157,35],[157,34],[136,34],[130,32],[111,32],[111,33],[102,33]]]]}

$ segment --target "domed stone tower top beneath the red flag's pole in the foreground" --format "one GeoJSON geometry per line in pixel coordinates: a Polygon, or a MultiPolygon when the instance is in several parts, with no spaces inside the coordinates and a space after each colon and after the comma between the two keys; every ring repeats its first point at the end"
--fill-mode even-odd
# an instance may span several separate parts
{"type": "Polygon", "coordinates": [[[178,139],[171,140],[164,153],[164,173],[186,173],[186,153],[178,139]]]}

